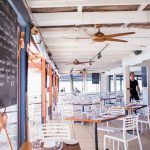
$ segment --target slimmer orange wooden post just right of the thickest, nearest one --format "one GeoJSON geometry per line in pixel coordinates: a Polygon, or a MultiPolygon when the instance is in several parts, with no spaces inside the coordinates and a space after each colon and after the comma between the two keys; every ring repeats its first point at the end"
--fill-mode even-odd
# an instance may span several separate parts
{"type": "Polygon", "coordinates": [[[52,105],[53,105],[53,98],[52,98],[52,67],[49,66],[49,117],[52,119],[52,105]]]}

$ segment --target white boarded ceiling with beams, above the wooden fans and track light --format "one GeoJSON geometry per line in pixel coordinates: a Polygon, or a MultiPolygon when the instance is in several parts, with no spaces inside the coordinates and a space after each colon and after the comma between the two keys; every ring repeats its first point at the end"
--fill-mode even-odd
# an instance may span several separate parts
{"type": "Polygon", "coordinates": [[[128,27],[130,23],[150,23],[150,11],[143,9],[150,4],[149,0],[28,0],[30,8],[77,7],[76,12],[32,13],[52,59],[60,73],[69,73],[71,68],[93,69],[93,72],[104,72],[121,66],[124,57],[133,54],[133,50],[143,50],[150,46],[150,29],[128,27]],[[84,6],[139,5],[135,11],[82,12],[84,6]],[[118,37],[127,40],[119,42],[93,42],[89,34],[98,29],[81,27],[87,24],[123,24],[120,27],[102,27],[104,34],[136,32],[134,35],[118,37]],[[64,27],[72,25],[71,27],[64,27]],[[79,26],[79,27],[73,27],[79,26]],[[78,39],[78,38],[86,39],[78,39]],[[94,63],[85,65],[66,65],[61,62],[89,61],[106,45],[102,58],[94,58],[94,63]]]}

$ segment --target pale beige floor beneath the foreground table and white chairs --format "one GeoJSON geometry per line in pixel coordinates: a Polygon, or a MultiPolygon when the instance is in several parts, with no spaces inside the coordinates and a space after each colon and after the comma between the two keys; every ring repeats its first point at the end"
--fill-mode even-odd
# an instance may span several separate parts
{"type": "MultiPolygon", "coordinates": [[[[73,124],[74,138],[79,141],[81,150],[95,150],[94,139],[94,124],[73,124]]],[[[103,137],[104,132],[98,131],[98,144],[99,150],[103,150],[103,137]]],[[[141,134],[141,140],[143,150],[150,150],[150,130],[144,130],[141,134]]],[[[110,143],[109,150],[112,149],[112,143],[110,143]]],[[[116,150],[117,148],[115,148],[116,150]]],[[[139,150],[138,141],[135,140],[129,143],[128,150],[139,150]]],[[[123,145],[120,144],[119,150],[124,150],[123,145]]]]}

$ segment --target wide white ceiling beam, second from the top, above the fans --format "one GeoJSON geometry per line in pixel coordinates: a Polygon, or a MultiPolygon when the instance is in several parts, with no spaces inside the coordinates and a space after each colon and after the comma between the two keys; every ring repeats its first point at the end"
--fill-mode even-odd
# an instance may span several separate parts
{"type": "Polygon", "coordinates": [[[150,11],[38,13],[33,16],[39,26],[150,22],[150,11]]]}

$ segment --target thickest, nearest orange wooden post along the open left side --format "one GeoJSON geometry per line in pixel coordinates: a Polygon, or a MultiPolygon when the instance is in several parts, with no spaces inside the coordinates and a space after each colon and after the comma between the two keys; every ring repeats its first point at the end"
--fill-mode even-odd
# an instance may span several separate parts
{"type": "Polygon", "coordinates": [[[42,123],[46,123],[46,62],[42,58],[42,123]]]}

